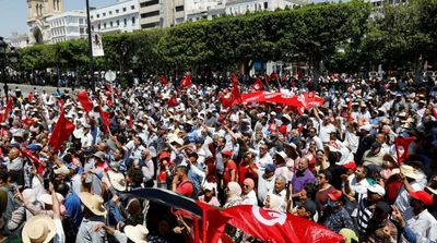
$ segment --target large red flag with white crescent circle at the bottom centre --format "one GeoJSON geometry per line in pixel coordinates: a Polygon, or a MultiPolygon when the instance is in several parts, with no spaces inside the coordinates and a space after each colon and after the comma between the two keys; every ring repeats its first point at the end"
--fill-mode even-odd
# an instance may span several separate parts
{"type": "Polygon", "coordinates": [[[227,223],[257,239],[273,243],[338,243],[344,239],[307,219],[258,206],[238,205],[222,210],[227,223]]]}

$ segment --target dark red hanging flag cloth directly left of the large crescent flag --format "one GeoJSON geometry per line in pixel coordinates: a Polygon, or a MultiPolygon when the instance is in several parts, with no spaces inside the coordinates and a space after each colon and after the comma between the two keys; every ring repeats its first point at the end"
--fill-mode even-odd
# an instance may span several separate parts
{"type": "Polygon", "coordinates": [[[223,215],[216,207],[197,201],[196,204],[202,208],[202,242],[216,243],[221,239],[228,217],[223,215]]]}

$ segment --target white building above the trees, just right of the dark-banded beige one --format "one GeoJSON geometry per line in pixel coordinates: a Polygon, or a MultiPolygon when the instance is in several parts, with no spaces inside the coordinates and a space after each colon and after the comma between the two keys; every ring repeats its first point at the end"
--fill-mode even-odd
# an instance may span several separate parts
{"type": "Polygon", "coordinates": [[[187,21],[212,20],[225,13],[226,0],[186,0],[187,21]]]}

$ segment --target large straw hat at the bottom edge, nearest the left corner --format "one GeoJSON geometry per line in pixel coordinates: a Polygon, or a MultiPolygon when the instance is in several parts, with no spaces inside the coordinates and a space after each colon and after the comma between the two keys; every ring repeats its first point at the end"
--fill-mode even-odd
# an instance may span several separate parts
{"type": "Polygon", "coordinates": [[[55,221],[46,215],[37,215],[28,219],[21,233],[24,243],[47,243],[55,234],[55,221]]]}

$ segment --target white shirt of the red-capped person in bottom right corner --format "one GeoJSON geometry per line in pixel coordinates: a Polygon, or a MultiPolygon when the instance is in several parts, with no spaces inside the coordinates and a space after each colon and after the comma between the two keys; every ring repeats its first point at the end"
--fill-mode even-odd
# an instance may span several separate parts
{"type": "MultiPolygon", "coordinates": [[[[416,242],[428,242],[428,240],[436,242],[437,220],[432,214],[429,214],[427,209],[415,216],[413,208],[410,207],[405,210],[404,219],[406,227],[409,227],[416,234],[416,242]]],[[[402,236],[402,242],[408,241],[402,236]]]]}

